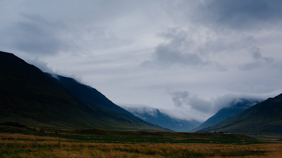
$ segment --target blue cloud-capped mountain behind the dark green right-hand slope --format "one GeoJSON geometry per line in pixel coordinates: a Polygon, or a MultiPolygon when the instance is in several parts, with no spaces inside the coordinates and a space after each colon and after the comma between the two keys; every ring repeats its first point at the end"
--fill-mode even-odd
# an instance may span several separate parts
{"type": "Polygon", "coordinates": [[[249,107],[261,102],[263,100],[260,99],[243,99],[243,98],[238,98],[234,99],[230,102],[228,107],[224,107],[217,111],[217,113],[207,119],[204,123],[202,123],[199,127],[191,130],[192,132],[199,131],[203,128],[206,128],[208,126],[213,126],[220,121],[223,121],[226,118],[232,117],[245,109],[248,109],[249,107]]]}

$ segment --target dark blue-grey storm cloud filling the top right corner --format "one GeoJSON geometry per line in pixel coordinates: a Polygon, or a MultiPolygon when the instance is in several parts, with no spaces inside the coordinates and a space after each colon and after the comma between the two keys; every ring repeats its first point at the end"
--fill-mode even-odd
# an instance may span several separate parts
{"type": "Polygon", "coordinates": [[[263,23],[282,20],[282,1],[279,0],[214,0],[199,5],[203,23],[216,23],[235,29],[260,28],[263,23]]]}

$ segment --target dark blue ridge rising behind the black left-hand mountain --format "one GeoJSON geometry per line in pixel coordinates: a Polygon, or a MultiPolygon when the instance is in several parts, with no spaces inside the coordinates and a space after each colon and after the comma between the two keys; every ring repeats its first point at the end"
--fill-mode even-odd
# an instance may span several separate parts
{"type": "Polygon", "coordinates": [[[70,91],[70,93],[73,96],[77,97],[82,101],[87,101],[92,104],[102,105],[107,108],[115,109],[125,114],[132,115],[130,112],[114,104],[106,96],[104,96],[102,93],[97,91],[95,88],[92,88],[91,86],[81,84],[75,79],[70,77],[63,77],[60,75],[50,74],[50,73],[46,73],[46,74],[48,74],[50,77],[53,77],[55,80],[59,81],[61,86],[63,86],[65,89],[70,91]]]}

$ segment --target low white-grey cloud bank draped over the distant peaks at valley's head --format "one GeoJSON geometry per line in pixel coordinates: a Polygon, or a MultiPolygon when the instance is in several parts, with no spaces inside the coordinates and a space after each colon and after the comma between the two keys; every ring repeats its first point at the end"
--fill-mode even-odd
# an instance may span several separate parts
{"type": "MultiPolygon", "coordinates": [[[[215,99],[204,100],[197,95],[190,95],[188,91],[173,91],[170,95],[175,103],[175,107],[158,108],[160,112],[173,118],[187,121],[196,120],[200,122],[206,121],[222,108],[230,107],[243,101],[248,101],[248,105],[246,106],[253,106],[266,98],[265,96],[226,94],[218,96],[215,99]]],[[[156,109],[151,106],[140,104],[118,105],[134,115],[147,113],[156,117],[156,109]]]]}

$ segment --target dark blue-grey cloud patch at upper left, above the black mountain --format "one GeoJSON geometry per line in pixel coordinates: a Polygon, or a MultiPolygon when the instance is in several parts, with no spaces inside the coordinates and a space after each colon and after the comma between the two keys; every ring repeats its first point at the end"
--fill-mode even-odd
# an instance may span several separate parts
{"type": "Polygon", "coordinates": [[[64,28],[62,23],[48,22],[37,15],[21,16],[24,20],[15,22],[12,27],[5,30],[6,36],[12,37],[9,41],[10,47],[37,55],[54,55],[67,48],[68,44],[59,37],[60,31],[64,28]]]}

